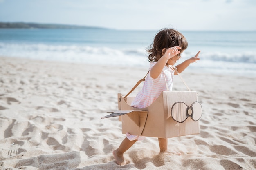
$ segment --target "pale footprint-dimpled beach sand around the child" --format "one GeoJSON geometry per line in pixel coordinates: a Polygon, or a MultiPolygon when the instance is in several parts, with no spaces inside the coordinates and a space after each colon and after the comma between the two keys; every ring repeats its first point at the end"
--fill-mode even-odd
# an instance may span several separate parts
{"type": "MultiPolygon", "coordinates": [[[[147,137],[118,166],[121,122],[100,117],[147,68],[0,60],[0,170],[256,169],[256,77],[184,71],[202,103],[201,134],[168,139],[181,156],[158,155],[157,138],[147,137]]],[[[186,90],[179,77],[174,83],[186,90]]]]}

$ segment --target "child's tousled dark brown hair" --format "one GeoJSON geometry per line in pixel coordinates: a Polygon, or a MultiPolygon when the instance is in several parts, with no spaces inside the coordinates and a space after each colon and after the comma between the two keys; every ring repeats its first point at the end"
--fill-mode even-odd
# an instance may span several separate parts
{"type": "Polygon", "coordinates": [[[147,48],[148,60],[157,62],[162,57],[162,50],[173,46],[180,46],[182,53],[188,47],[188,42],[184,35],[175,29],[161,29],[155,35],[154,42],[147,48]]]}

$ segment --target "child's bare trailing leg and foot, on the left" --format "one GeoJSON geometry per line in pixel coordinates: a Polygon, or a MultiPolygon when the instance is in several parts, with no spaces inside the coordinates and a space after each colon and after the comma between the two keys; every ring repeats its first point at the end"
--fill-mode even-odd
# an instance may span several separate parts
{"type": "Polygon", "coordinates": [[[135,144],[136,141],[137,140],[130,141],[126,137],[120,144],[119,148],[113,151],[114,158],[116,159],[118,165],[126,165],[126,161],[124,160],[124,152],[135,144]]]}

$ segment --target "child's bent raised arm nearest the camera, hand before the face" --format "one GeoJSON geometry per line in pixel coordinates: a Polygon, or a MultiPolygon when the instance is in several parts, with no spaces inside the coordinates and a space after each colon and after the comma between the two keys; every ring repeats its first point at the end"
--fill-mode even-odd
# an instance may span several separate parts
{"type": "Polygon", "coordinates": [[[157,61],[157,63],[151,68],[149,74],[153,79],[156,79],[161,72],[163,71],[164,66],[166,65],[167,61],[174,57],[175,55],[179,54],[180,51],[178,49],[181,49],[179,46],[174,46],[171,48],[164,48],[162,50],[162,57],[157,61]]]}

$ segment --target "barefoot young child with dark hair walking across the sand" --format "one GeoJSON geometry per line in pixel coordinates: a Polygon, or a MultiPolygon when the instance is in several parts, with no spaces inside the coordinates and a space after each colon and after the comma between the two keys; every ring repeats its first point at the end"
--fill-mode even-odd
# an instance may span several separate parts
{"type": "MultiPolygon", "coordinates": [[[[162,29],[154,38],[153,43],[148,47],[148,60],[150,61],[149,75],[146,77],[141,91],[136,95],[131,106],[135,108],[145,108],[155,102],[162,91],[171,91],[173,77],[177,73],[173,65],[181,58],[181,53],[187,48],[186,38],[175,29],[162,29]],[[168,88],[166,87],[166,83],[168,88]]],[[[200,60],[200,51],[188,60],[177,65],[177,71],[182,72],[189,64],[200,60]]],[[[144,136],[136,136],[126,133],[126,138],[119,148],[113,151],[113,155],[118,165],[126,165],[124,152],[128,150],[136,141],[142,141],[144,136]]],[[[168,139],[158,138],[160,153],[177,154],[178,152],[168,151],[168,139]]]]}

